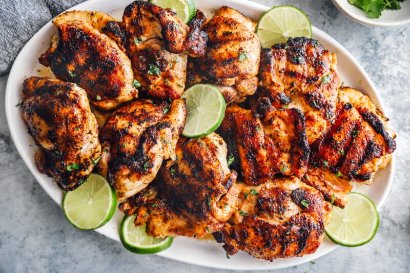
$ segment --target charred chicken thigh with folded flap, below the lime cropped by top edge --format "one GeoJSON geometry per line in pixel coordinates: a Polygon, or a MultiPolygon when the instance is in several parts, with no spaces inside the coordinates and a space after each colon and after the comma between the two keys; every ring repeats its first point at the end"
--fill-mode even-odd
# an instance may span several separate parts
{"type": "Polygon", "coordinates": [[[200,22],[198,17],[190,28],[169,9],[135,1],[125,8],[121,23],[109,22],[107,28],[130,57],[141,91],[151,98],[177,99],[185,88],[184,52],[204,54],[207,36],[200,22]]]}

